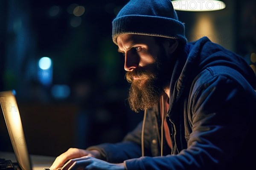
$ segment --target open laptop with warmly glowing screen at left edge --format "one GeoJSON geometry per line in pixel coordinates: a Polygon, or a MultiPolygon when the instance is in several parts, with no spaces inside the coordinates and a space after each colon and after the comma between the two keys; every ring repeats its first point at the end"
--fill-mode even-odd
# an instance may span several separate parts
{"type": "MultiPolygon", "coordinates": [[[[15,94],[15,90],[0,92],[0,104],[6,122],[7,130],[12,142],[15,157],[17,160],[17,168],[21,170],[49,170],[49,168],[43,167],[42,164],[37,165],[31,163],[31,159],[29,157],[29,153],[26,146],[26,140],[23,132],[23,126],[21,124],[20,112],[17,106],[15,94]],[[19,139],[19,143],[17,143],[15,139],[19,139]]],[[[4,158],[1,159],[2,163],[3,161],[4,158]]],[[[15,167],[15,163],[10,162],[10,160],[6,161],[8,166],[6,169],[9,168],[11,170],[12,166],[15,167]]],[[[50,164],[47,166],[50,166],[50,164]]],[[[4,167],[2,167],[2,169],[4,169],[4,167]]],[[[15,168],[13,169],[15,170],[15,168]]]]}

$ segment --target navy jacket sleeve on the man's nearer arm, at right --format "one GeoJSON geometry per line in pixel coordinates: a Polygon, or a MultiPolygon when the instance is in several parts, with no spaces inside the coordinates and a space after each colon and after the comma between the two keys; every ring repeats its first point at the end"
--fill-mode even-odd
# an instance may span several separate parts
{"type": "Polygon", "coordinates": [[[177,155],[126,160],[127,169],[229,169],[234,156],[244,149],[244,139],[255,117],[256,95],[250,85],[243,83],[226,75],[209,74],[204,80],[198,79],[188,104],[192,124],[188,147],[177,155]]]}

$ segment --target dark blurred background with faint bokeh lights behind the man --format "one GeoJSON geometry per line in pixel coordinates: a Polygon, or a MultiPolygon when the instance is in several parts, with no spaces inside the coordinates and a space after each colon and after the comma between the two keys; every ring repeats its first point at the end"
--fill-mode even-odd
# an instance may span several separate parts
{"type": "MultiPolygon", "coordinates": [[[[17,92],[29,153],[58,156],[119,142],[143,118],[128,107],[124,58],[111,38],[111,22],[127,2],[0,0],[0,91],[17,92]],[[81,16],[68,13],[73,3],[84,7],[81,16]],[[44,72],[41,57],[52,59],[44,72]]],[[[221,11],[177,11],[186,37],[207,36],[255,70],[256,1],[224,3],[221,11]]],[[[12,151],[2,113],[0,151],[12,151]]]]}

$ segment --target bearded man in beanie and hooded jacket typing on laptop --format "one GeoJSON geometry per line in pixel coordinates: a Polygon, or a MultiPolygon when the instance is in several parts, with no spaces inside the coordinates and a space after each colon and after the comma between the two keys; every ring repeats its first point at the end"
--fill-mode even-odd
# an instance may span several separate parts
{"type": "Polygon", "coordinates": [[[120,143],[70,148],[51,169],[249,169],[256,77],[244,59],[207,37],[187,43],[170,0],[131,0],[113,42],[144,120],[120,143]]]}

